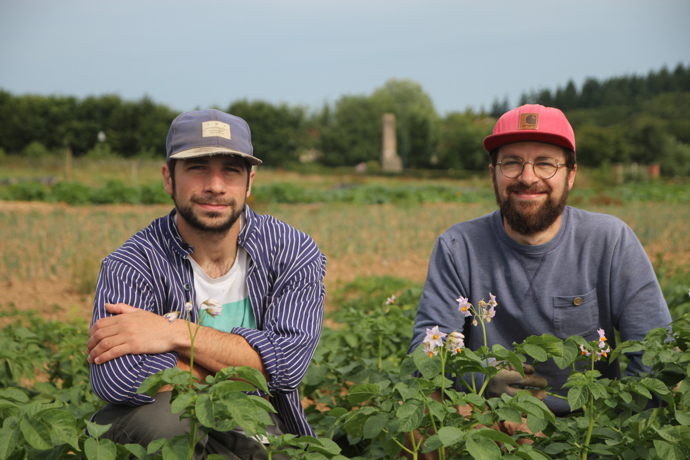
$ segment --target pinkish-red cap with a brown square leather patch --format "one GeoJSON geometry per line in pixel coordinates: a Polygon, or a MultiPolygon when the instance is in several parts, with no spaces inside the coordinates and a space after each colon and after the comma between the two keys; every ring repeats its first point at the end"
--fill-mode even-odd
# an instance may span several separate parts
{"type": "Polygon", "coordinates": [[[487,151],[506,143],[536,141],[553,143],[575,152],[575,133],[563,112],[553,107],[526,104],[501,115],[493,134],[484,138],[487,151]]]}

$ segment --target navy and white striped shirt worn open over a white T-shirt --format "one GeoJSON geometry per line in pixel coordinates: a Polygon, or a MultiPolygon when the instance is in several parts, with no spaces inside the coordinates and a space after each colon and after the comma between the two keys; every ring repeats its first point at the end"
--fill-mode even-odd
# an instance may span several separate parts
{"type": "MultiPolygon", "coordinates": [[[[137,232],[101,264],[92,324],[110,316],[105,303],[126,303],[156,314],[197,305],[194,276],[186,259],[193,248],[179,235],[173,209],[137,232]]],[[[246,226],[237,239],[250,256],[249,298],[257,328],[233,328],[262,358],[270,376],[270,402],[288,432],[310,434],[297,388],[319,341],[324,316],[326,257],[303,232],[244,208],[246,226]]],[[[192,311],[197,321],[198,311],[192,311]]],[[[91,388],[101,399],[140,406],[141,382],[177,364],[177,353],[127,354],[90,365],[91,388]]]]}

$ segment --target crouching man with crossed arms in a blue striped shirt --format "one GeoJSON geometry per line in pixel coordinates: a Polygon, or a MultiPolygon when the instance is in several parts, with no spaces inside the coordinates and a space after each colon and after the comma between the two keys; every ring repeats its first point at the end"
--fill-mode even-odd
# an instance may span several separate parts
{"type": "MultiPolygon", "coordinates": [[[[224,309],[196,326],[195,376],[251,366],[266,377],[277,410],[270,432],[313,435],[297,388],[321,334],[326,258],[307,234],[246,206],[252,166],[262,161],[244,120],[186,112],[172,122],[166,149],[164,185],[175,208],[101,266],[87,348],[92,389],[109,404],[94,420],[113,423],[106,436],[121,444],[181,434],[170,392],[152,398],[137,388],[160,370],[190,369],[186,322],[162,315],[191,302],[197,323],[201,303],[214,299],[224,309]]],[[[241,430],[212,434],[195,458],[263,450],[241,430]]]]}

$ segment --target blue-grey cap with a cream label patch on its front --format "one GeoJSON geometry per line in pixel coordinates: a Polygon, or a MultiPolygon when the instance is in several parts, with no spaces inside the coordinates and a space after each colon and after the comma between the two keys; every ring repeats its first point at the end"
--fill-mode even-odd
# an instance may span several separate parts
{"type": "Polygon", "coordinates": [[[230,154],[244,157],[254,166],[262,163],[254,156],[247,122],[215,109],[179,114],[170,125],[166,150],[166,161],[230,154]]]}

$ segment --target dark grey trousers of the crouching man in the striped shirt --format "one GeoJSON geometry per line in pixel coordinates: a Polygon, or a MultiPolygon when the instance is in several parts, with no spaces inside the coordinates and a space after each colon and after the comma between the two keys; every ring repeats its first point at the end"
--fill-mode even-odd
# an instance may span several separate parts
{"type": "MultiPolygon", "coordinates": [[[[144,406],[126,406],[108,403],[92,418],[99,425],[112,423],[104,438],[118,444],[148,446],[155,439],[172,439],[179,434],[189,434],[188,421],[180,421],[170,411],[170,392],[156,395],[156,400],[144,406]]],[[[201,439],[194,450],[193,459],[203,460],[209,454],[220,454],[229,460],[264,460],[268,452],[259,441],[234,431],[212,431],[201,439]]],[[[273,459],[285,459],[286,455],[273,454],[273,459]]]]}

